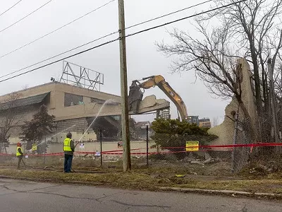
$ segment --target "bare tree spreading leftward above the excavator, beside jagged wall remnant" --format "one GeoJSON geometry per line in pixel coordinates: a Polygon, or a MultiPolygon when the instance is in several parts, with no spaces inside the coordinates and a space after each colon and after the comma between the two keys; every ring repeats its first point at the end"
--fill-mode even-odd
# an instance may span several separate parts
{"type": "Polygon", "coordinates": [[[204,35],[204,40],[197,40],[188,33],[174,30],[170,33],[175,45],[159,44],[159,50],[168,55],[176,54],[173,61],[173,71],[194,69],[209,90],[221,98],[235,98],[244,116],[250,119],[250,114],[242,100],[242,71],[240,64],[235,66],[235,57],[226,57],[228,52],[228,28],[215,28],[207,32],[205,25],[198,23],[198,30],[204,35]]]}

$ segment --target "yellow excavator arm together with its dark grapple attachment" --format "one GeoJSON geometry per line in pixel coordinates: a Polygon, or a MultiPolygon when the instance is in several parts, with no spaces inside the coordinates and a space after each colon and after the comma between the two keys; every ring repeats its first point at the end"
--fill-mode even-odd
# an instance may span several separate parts
{"type": "Polygon", "coordinates": [[[129,89],[129,110],[132,110],[133,113],[137,113],[140,102],[143,98],[143,93],[141,89],[149,89],[154,86],[158,86],[165,94],[166,96],[176,105],[178,110],[178,119],[179,115],[181,120],[187,120],[188,119],[188,112],[185,106],[185,103],[183,102],[182,98],[178,93],[176,93],[171,86],[165,81],[164,77],[161,75],[157,76],[149,76],[142,78],[142,83],[140,81],[133,81],[130,89],[129,89]]]}

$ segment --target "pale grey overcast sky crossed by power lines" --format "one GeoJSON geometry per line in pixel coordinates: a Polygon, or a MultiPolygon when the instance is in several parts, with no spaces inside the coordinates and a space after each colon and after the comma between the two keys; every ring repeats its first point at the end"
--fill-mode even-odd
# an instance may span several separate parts
{"type": "MultiPolygon", "coordinates": [[[[18,0],[0,0],[0,14],[17,1],[18,0]]],[[[49,0],[21,1],[17,6],[3,16],[0,16],[0,31],[20,18],[23,18],[23,16],[28,13],[34,11],[39,6],[42,6],[42,4],[47,1],[49,0]]],[[[11,52],[13,49],[25,45],[26,43],[37,39],[37,37],[61,27],[61,25],[92,11],[98,6],[102,6],[108,1],[109,0],[53,0],[47,4],[47,6],[44,6],[44,8],[41,8],[36,13],[32,14],[32,16],[29,16],[20,23],[13,25],[13,27],[0,33],[0,54],[3,55],[7,52],[11,52]]],[[[140,23],[144,20],[161,16],[165,13],[170,13],[200,2],[202,1],[125,0],[125,25],[129,26],[135,23],[140,23]]],[[[161,18],[154,22],[131,28],[130,30],[127,30],[126,33],[133,33],[137,30],[142,30],[160,23],[166,23],[177,18],[190,16],[195,12],[203,11],[209,6],[210,4],[207,4],[206,6],[200,6],[173,16],[161,18]]],[[[167,58],[161,54],[161,52],[157,52],[156,42],[160,42],[161,40],[164,40],[166,43],[172,42],[168,33],[166,33],[166,30],[170,31],[173,30],[173,28],[187,30],[191,35],[197,36],[197,32],[195,32],[192,26],[192,19],[189,19],[172,25],[166,25],[165,28],[158,28],[133,37],[128,37],[128,86],[130,86],[130,82],[135,79],[161,74],[183,98],[188,107],[189,115],[198,115],[200,118],[209,117],[210,119],[218,117],[222,120],[224,109],[228,102],[222,101],[209,94],[207,88],[199,79],[195,82],[195,73],[192,70],[182,73],[181,76],[176,73],[169,73],[171,58],[167,58]]],[[[118,30],[118,3],[117,1],[114,1],[108,6],[99,9],[99,11],[91,13],[89,16],[68,25],[66,28],[44,37],[42,40],[20,49],[13,54],[1,58],[0,76],[25,66],[35,64],[37,61],[47,59],[48,57],[52,57],[116,30],[118,30]]],[[[100,43],[112,40],[117,36],[118,35],[107,37],[99,42],[94,42],[92,45],[82,47],[80,50],[99,45],[100,43]]],[[[104,73],[105,84],[102,86],[101,90],[106,93],[120,95],[118,50],[118,42],[114,42],[85,54],[72,57],[71,59],[68,59],[68,61],[104,73]]],[[[78,50],[75,50],[74,52],[78,52],[78,50]]],[[[66,56],[73,54],[74,52],[68,53],[66,56]]],[[[46,63],[47,62],[43,64],[46,63]]],[[[42,83],[48,83],[51,77],[59,78],[61,73],[62,62],[59,62],[24,76],[13,78],[9,81],[0,83],[0,95],[21,90],[25,88],[25,86],[32,87],[42,83]]],[[[159,88],[152,88],[145,91],[145,96],[152,94],[156,95],[157,98],[166,98],[166,95],[164,95],[159,88]]],[[[171,114],[173,118],[176,118],[176,107],[172,102],[171,114]]],[[[142,115],[137,117],[137,120],[144,121],[146,119],[151,121],[152,115],[142,115]]]]}

